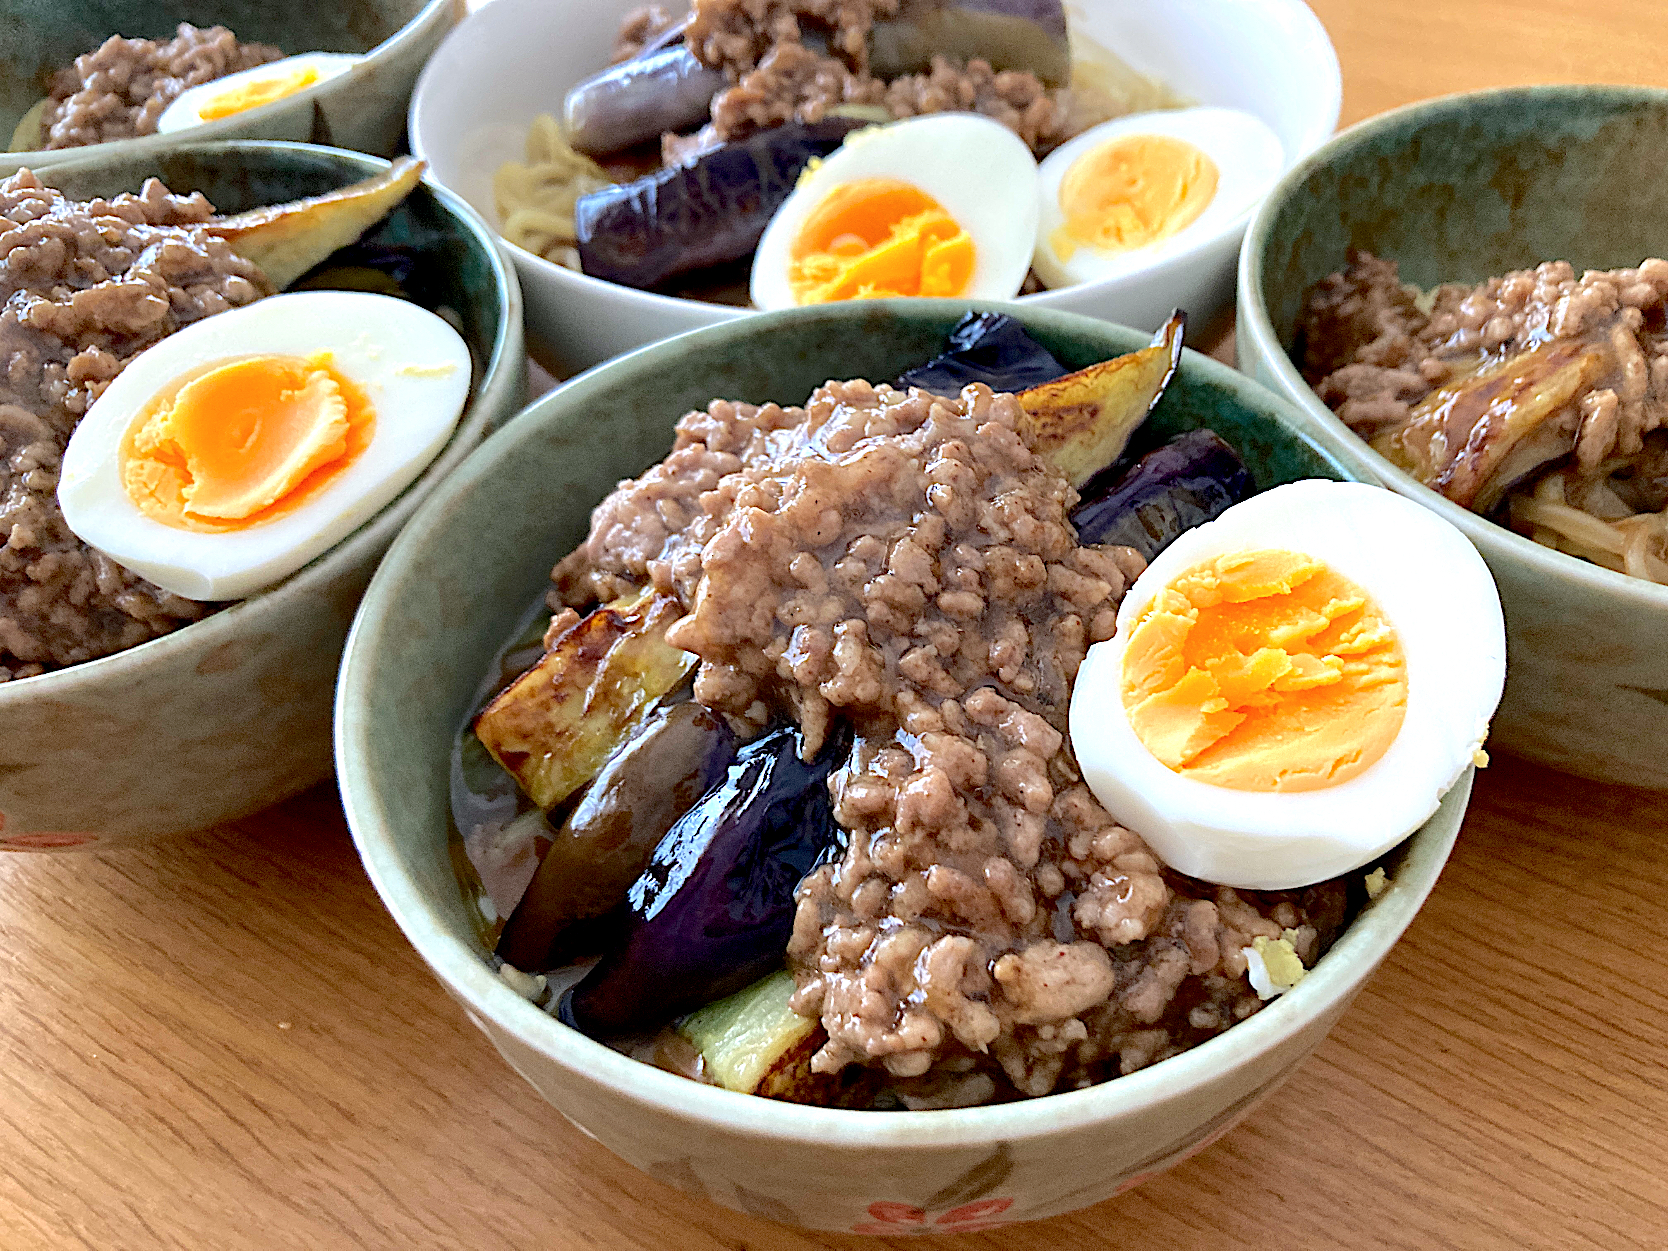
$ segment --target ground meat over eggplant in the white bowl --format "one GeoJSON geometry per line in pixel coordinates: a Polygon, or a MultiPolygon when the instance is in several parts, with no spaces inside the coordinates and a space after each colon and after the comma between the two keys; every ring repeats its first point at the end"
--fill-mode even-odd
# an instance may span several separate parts
{"type": "MultiPolygon", "coordinates": [[[[1042,153],[1076,132],[1069,97],[1029,72],[996,72],[989,62],[957,65],[934,57],[927,73],[882,82],[869,73],[867,37],[897,0],[696,0],[686,42],[731,87],[712,100],[712,122],[697,135],[669,135],[669,163],[721,142],[784,122],[819,122],[836,105],[872,105],[894,118],[921,113],[984,113],[1042,153]],[[807,47],[807,35],[816,47],[807,47]]],[[[652,10],[627,18],[620,47],[641,47],[656,30],[652,10]]]]}

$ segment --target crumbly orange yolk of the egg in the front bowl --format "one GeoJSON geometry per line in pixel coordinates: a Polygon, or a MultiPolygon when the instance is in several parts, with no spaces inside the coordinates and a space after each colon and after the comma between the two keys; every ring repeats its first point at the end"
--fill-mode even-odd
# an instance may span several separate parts
{"type": "Polygon", "coordinates": [[[1154,595],[1121,687],[1136,737],[1183,777],[1318,791],[1396,739],[1408,662],[1373,599],[1321,560],[1234,552],[1154,595]]]}

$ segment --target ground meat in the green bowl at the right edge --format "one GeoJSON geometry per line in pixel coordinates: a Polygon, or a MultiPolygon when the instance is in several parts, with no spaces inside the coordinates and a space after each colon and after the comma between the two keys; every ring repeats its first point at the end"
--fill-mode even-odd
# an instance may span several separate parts
{"type": "MultiPolygon", "coordinates": [[[[1356,434],[1449,499],[1488,507],[1515,479],[1571,454],[1581,472],[1598,474],[1615,469],[1606,465],[1613,457],[1668,452],[1646,442],[1668,425],[1665,299],[1668,260],[1580,277],[1555,260],[1476,287],[1448,284],[1426,302],[1401,284],[1393,260],[1351,252],[1344,270],[1309,292],[1298,357],[1319,397],[1356,434]],[[1503,445],[1508,424],[1500,422],[1498,437],[1490,427],[1488,404],[1453,405],[1421,424],[1416,409],[1438,387],[1536,349],[1545,349],[1536,364],[1546,369],[1575,354],[1591,365],[1533,442],[1516,440],[1515,457],[1503,445]],[[1414,455],[1409,430],[1438,419],[1449,427],[1443,452],[1414,455]]],[[[1663,507],[1656,495],[1635,504],[1663,507]]]]}

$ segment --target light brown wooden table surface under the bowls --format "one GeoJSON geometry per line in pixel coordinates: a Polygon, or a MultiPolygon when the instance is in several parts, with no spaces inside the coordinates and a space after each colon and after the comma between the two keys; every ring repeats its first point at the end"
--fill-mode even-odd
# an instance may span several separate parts
{"type": "MultiPolygon", "coordinates": [[[[1344,123],[1498,83],[1668,85],[1655,0],[1314,7],[1344,123]]],[[[1500,759],[1278,1098],[1121,1199],[939,1246],[1668,1246],[1665,894],[1665,797],[1500,759]]],[[[405,946],[327,787],[148,849],[0,856],[5,1251],[876,1244],[686,1198],[569,1126],[405,946]]]]}

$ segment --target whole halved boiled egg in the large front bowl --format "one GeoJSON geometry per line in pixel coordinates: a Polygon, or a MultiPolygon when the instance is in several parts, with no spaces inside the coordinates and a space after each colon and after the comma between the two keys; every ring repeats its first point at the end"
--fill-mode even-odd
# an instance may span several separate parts
{"type": "Polygon", "coordinates": [[[1293,889],[1361,867],[1481,756],[1500,597],[1434,512],[1359,482],[1274,487],[1136,579],[1071,696],[1084,781],[1179,872],[1293,889]]]}

